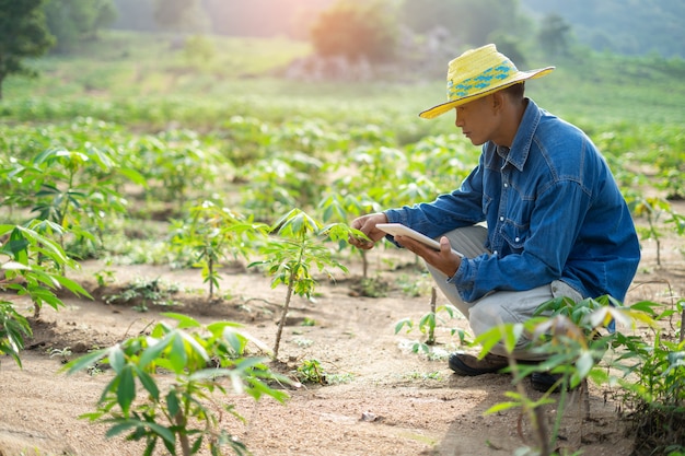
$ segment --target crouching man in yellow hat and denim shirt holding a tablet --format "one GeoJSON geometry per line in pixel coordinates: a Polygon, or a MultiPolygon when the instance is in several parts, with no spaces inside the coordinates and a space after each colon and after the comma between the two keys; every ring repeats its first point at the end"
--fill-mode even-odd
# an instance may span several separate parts
{"type": "MultiPolygon", "coordinates": [[[[519,71],[495,45],[452,60],[448,102],[419,116],[455,109],[456,127],[483,145],[478,166],[458,189],[432,202],[351,223],[372,241],[350,239],[364,249],[386,235],[379,223],[440,237],[437,252],[407,236],[387,236],[426,260],[476,336],[497,324],[523,323],[554,297],[578,302],[608,294],[623,301],[640,259],[629,210],[594,144],[524,96],[525,80],[553,70],[519,71]]],[[[522,340],[513,356],[539,361],[526,344],[522,340]]],[[[449,364],[458,375],[480,375],[506,367],[506,354],[496,346],[481,360],[454,353],[449,364]]]]}

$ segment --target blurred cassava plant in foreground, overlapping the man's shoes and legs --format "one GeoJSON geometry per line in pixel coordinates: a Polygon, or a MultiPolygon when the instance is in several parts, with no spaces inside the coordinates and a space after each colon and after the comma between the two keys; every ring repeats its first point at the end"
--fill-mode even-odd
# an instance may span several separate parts
{"type": "Polygon", "coordinates": [[[518,364],[510,355],[509,370],[516,391],[509,391],[507,396],[511,400],[495,405],[486,413],[521,408],[530,421],[536,441],[534,448],[522,448],[527,453],[521,454],[557,454],[554,448],[557,446],[569,391],[579,388],[583,394],[584,416],[580,417],[580,421],[589,419],[588,379],[597,384],[616,383],[617,378],[609,373],[607,366],[602,365],[609,350],[616,349],[615,341],[620,340],[620,334],[614,330],[614,326],[618,324],[622,327],[634,327],[637,320],[653,324],[642,306],[625,307],[611,296],[587,299],[578,303],[559,297],[543,303],[537,308],[536,316],[524,324],[498,325],[479,335],[474,344],[480,344],[480,356],[496,344],[501,344],[508,353],[512,353],[525,343],[527,350],[545,359],[537,364],[518,364]],[[524,340],[529,341],[523,342],[524,340]],[[536,400],[530,397],[522,384],[534,372],[555,374],[558,378],[536,400]],[[560,395],[553,399],[553,393],[560,395]],[[553,429],[548,430],[542,407],[550,404],[556,404],[557,412],[553,429]]]}

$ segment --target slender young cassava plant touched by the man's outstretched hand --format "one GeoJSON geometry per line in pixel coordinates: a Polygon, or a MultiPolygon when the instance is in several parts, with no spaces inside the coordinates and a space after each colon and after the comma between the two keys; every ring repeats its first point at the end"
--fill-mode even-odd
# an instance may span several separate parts
{"type": "Polygon", "coordinates": [[[330,268],[347,272],[347,268],[333,257],[326,242],[347,239],[351,229],[342,223],[323,226],[300,209],[292,209],[271,226],[270,232],[276,237],[270,238],[260,249],[266,259],[252,262],[249,267],[266,266],[271,276],[271,288],[283,284],[288,289],[274,344],[272,356],[277,360],[292,295],[311,299],[316,287],[312,266],[329,277],[330,268]]]}

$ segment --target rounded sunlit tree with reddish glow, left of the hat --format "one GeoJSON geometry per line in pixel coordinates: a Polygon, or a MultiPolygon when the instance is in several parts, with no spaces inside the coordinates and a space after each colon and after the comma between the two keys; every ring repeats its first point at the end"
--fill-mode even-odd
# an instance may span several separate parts
{"type": "Polygon", "coordinates": [[[312,44],[320,56],[392,59],[398,37],[396,17],[392,0],[338,0],[312,26],[312,44]]]}

